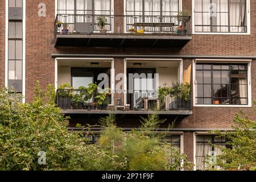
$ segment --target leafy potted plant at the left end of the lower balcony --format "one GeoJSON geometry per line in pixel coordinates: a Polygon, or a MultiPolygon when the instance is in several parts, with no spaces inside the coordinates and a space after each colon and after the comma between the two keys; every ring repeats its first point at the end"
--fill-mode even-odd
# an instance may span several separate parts
{"type": "Polygon", "coordinates": [[[68,83],[59,85],[56,97],[57,106],[61,107],[62,109],[71,109],[73,87],[68,83]]]}

